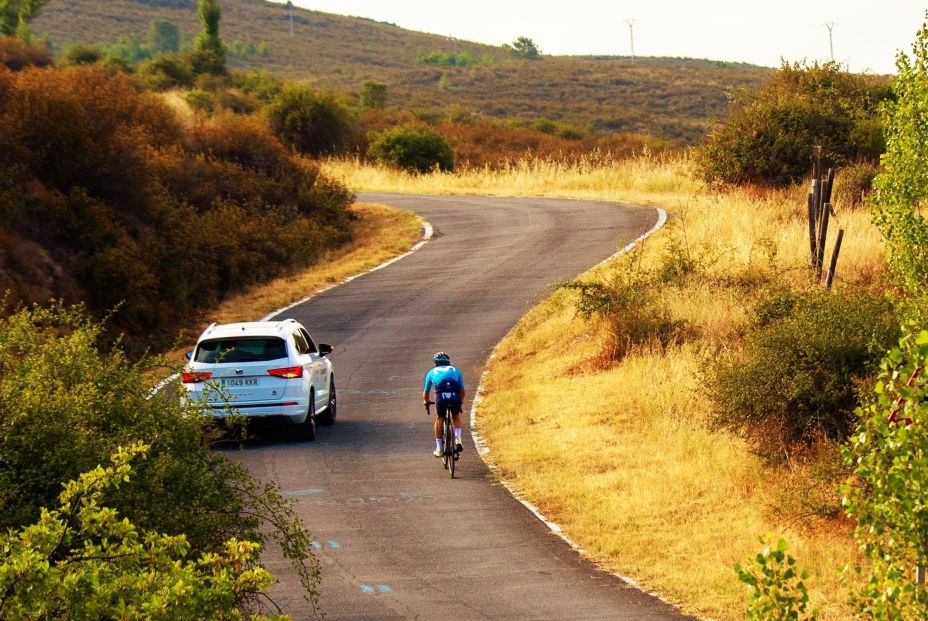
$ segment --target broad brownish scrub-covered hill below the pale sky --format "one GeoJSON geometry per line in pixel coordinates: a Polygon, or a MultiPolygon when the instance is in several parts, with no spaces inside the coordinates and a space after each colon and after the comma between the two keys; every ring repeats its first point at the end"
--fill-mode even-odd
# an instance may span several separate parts
{"type": "MultiPolygon", "coordinates": [[[[770,71],[670,58],[527,61],[511,58],[502,47],[297,8],[291,37],[283,4],[223,0],[222,7],[223,39],[245,50],[231,55],[232,67],[263,68],[351,93],[364,80],[376,80],[387,84],[392,104],[426,114],[544,118],[692,144],[709,119],[725,111],[727,91],[756,86],[770,71]]],[[[144,42],[157,18],[171,20],[188,42],[199,29],[196,0],[52,0],[33,27],[61,52],[75,42],[112,45],[120,37],[144,42]]]]}

